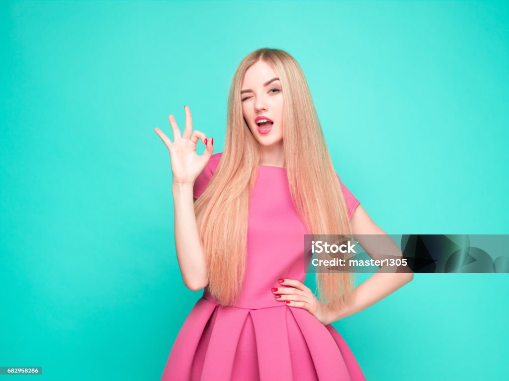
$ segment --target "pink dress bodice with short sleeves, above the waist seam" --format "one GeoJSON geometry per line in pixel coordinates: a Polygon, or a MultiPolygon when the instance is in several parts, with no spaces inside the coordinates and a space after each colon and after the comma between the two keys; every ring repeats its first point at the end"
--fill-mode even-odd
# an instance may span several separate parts
{"type": "MultiPolygon", "coordinates": [[[[205,190],[217,168],[220,155],[212,155],[207,167],[196,178],[194,197],[199,197],[205,190]]],[[[359,201],[343,183],[342,189],[349,214],[350,211],[353,214],[359,201]]],[[[304,282],[307,270],[304,266],[304,235],[309,234],[292,203],[286,168],[259,165],[248,216],[246,272],[235,307],[256,309],[280,306],[281,302],[274,298],[270,289],[281,287],[277,282],[280,278],[304,282]]],[[[203,297],[217,302],[210,295],[208,287],[205,287],[203,297]]]]}

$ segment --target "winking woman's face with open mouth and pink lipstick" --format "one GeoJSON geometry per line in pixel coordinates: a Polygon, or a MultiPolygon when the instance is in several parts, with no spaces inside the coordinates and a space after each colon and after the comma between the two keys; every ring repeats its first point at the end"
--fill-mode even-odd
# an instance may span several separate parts
{"type": "Polygon", "coordinates": [[[254,137],[269,146],[283,139],[283,95],[281,82],[269,64],[259,61],[247,69],[241,85],[242,114],[254,137]],[[273,123],[258,124],[265,119],[273,123]]]}

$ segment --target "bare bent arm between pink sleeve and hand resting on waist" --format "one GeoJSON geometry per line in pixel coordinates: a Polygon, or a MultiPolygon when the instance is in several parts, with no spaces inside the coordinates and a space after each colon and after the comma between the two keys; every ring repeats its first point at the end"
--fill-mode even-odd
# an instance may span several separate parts
{"type": "MultiPolygon", "coordinates": [[[[379,251],[380,247],[375,245],[375,241],[370,239],[363,240],[362,235],[386,235],[386,233],[371,219],[362,206],[359,205],[355,210],[351,225],[354,236],[360,235],[356,239],[366,253],[373,259],[383,259],[380,255],[377,255],[377,250],[379,251]]],[[[400,248],[390,238],[383,241],[387,243],[387,247],[384,247],[383,250],[384,253],[390,251],[391,255],[403,255],[400,248]]],[[[380,241],[377,240],[376,242],[379,243],[380,241]]],[[[383,270],[382,266],[368,280],[355,287],[352,303],[341,311],[334,311],[331,320],[339,320],[362,311],[392,294],[392,292],[413,279],[413,273],[382,273],[383,270]]]]}

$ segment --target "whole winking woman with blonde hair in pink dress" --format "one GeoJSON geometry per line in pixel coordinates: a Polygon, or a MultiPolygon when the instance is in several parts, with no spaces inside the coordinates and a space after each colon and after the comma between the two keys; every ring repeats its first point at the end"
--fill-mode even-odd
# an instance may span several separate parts
{"type": "Polygon", "coordinates": [[[205,290],[162,380],[364,380],[330,323],[371,306],[412,274],[376,273],[352,288],[351,274],[319,273],[320,299],[303,284],[305,234],[385,233],[334,171],[300,66],[278,49],[242,60],[222,153],[213,154],[213,138],[193,130],[184,109],[183,133],[169,115],[174,141],[155,131],[171,156],[182,279],[205,290]]]}

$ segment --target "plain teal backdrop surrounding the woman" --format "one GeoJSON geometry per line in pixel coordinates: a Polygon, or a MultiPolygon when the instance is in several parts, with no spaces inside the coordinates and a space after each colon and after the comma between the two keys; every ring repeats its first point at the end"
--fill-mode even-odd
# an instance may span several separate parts
{"type": "MultiPolygon", "coordinates": [[[[508,21],[506,2],[3,2],[0,366],[160,379],[202,291],[181,280],[153,129],[189,105],[221,152],[260,47],[300,63],[386,232],[509,233],[508,21]]],[[[418,274],[334,327],[368,380],[506,379],[508,280],[418,274]]]]}

